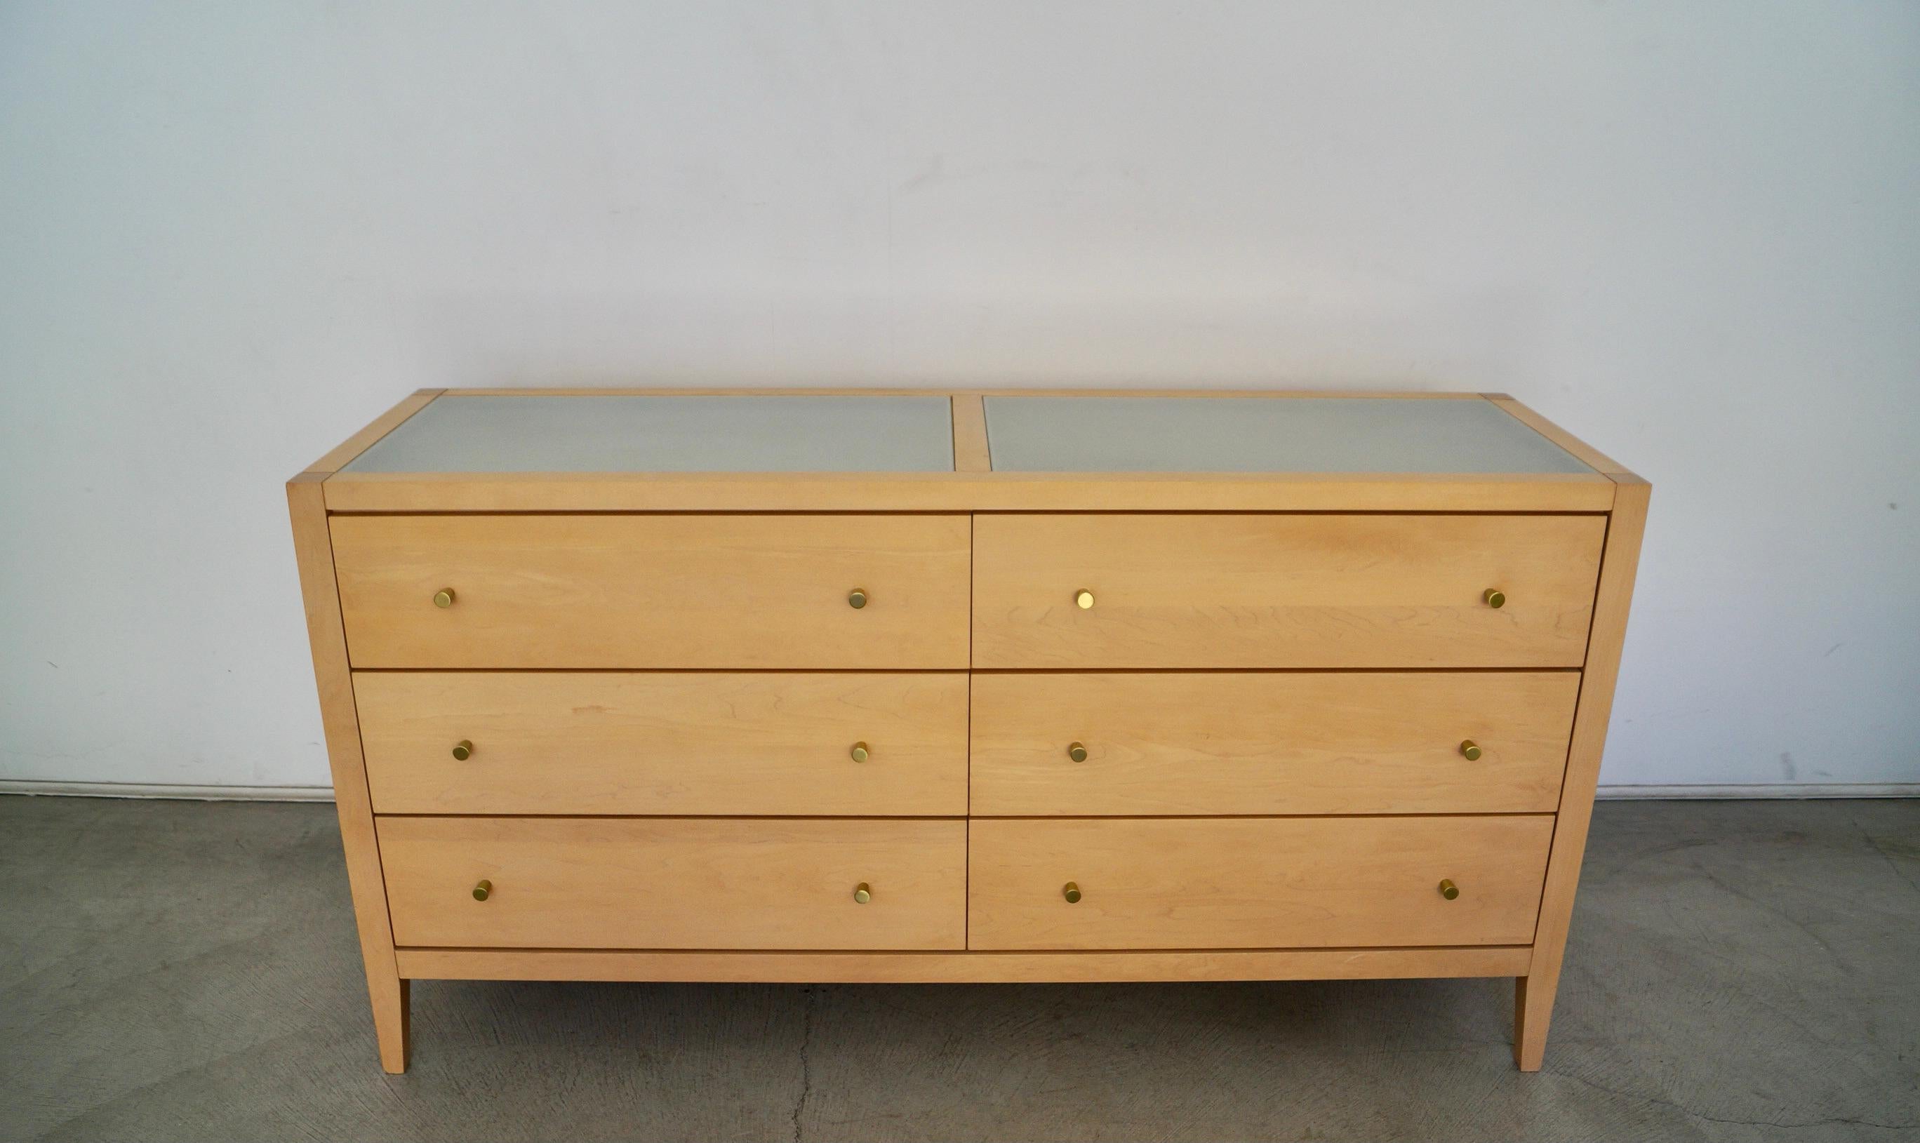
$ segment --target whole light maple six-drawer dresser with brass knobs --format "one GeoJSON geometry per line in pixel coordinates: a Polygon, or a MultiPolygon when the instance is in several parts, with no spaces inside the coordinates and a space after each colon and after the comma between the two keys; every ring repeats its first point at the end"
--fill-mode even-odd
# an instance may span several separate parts
{"type": "Polygon", "coordinates": [[[1647,484],[1498,394],[420,390],[288,484],[413,980],[1511,976],[1647,484]]]}

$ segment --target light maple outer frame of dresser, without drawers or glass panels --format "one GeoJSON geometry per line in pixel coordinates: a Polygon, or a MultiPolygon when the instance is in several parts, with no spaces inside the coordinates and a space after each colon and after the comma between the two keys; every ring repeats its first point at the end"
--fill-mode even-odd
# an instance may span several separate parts
{"type": "Polygon", "coordinates": [[[348,878],[382,1066],[407,1060],[411,980],[1079,982],[1511,976],[1515,1060],[1540,1068],[1613,705],[1649,484],[1505,394],[1275,390],[419,390],[288,480],[307,628],[348,878]],[[952,473],[342,473],[440,396],[910,394],[952,401],[952,473]],[[1592,467],[1572,474],[1052,474],[993,473],[983,396],[1379,396],[1484,400],[1592,467]],[[328,515],[342,513],[1594,513],[1607,517],[1582,686],[1574,707],[1534,939],[1494,947],[758,953],[407,949],[394,943],[336,590],[328,515]]]}

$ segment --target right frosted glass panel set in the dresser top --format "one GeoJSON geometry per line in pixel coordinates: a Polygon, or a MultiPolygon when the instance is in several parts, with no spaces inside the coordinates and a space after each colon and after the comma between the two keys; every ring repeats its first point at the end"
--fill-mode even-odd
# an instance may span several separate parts
{"type": "Polygon", "coordinates": [[[1482,400],[987,398],[996,473],[1592,473],[1482,400]]]}

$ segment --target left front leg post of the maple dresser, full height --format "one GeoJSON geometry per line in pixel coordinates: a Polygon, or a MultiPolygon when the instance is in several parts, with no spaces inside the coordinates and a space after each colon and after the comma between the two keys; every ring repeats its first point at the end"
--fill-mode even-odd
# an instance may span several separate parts
{"type": "Polygon", "coordinates": [[[313,649],[313,680],[321,693],[321,728],[326,736],[326,765],[334,778],[334,809],[340,815],[340,843],[346,849],[348,888],[353,893],[353,920],[359,926],[361,964],[372,1001],[372,1026],[380,1041],[380,1066],[407,1070],[407,982],[394,962],[394,930],[386,912],[380,870],[380,841],[374,836],[372,803],[367,793],[367,766],[361,757],[359,718],[348,670],[346,632],[340,622],[340,596],[334,592],[334,555],[326,536],[326,507],[321,503],[324,473],[301,473],[286,482],[286,507],[294,524],[294,557],[300,563],[300,594],[307,613],[307,642],[313,649]]]}

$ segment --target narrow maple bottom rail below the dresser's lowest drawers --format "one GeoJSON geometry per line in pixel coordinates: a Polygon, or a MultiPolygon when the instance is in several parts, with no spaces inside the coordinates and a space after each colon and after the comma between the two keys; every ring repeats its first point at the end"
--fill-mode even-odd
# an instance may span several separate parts
{"type": "Polygon", "coordinates": [[[396,949],[403,980],[636,980],[714,984],[1092,984],[1148,980],[1526,976],[1532,957],[1532,945],[1100,953],[396,949]]]}

